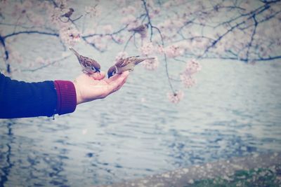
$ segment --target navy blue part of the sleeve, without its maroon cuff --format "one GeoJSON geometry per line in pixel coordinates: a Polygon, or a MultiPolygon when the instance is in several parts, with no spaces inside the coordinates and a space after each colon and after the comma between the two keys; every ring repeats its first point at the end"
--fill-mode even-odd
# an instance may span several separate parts
{"type": "Polygon", "coordinates": [[[26,83],[0,73],[0,118],[53,116],[57,99],[53,81],[26,83]]]}

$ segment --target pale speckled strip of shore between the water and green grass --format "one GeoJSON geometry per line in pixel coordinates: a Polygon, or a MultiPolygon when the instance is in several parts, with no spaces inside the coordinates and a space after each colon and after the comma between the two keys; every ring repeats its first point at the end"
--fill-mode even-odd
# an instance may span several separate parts
{"type": "Polygon", "coordinates": [[[100,187],[192,186],[195,181],[216,179],[217,177],[230,181],[229,176],[233,176],[237,171],[248,171],[250,169],[257,171],[260,168],[274,170],[276,165],[281,165],[281,153],[254,153],[247,157],[230,158],[228,160],[208,162],[203,165],[193,165],[171,172],[146,176],[143,179],[134,179],[100,187]]]}

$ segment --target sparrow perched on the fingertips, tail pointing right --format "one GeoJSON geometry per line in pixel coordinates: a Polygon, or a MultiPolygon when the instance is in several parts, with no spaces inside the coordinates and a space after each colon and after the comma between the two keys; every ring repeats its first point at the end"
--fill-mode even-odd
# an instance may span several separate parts
{"type": "Polygon", "coordinates": [[[110,78],[115,74],[122,74],[123,71],[133,71],[133,67],[143,62],[144,60],[154,60],[154,57],[138,58],[139,56],[126,57],[117,60],[114,66],[110,67],[107,71],[107,76],[110,78]]]}

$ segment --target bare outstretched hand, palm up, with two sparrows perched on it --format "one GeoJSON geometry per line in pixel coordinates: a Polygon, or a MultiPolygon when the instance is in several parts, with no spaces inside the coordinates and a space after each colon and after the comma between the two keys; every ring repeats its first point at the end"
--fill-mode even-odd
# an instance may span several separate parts
{"type": "Polygon", "coordinates": [[[103,99],[112,92],[119,90],[126,82],[129,71],[105,78],[105,73],[94,73],[91,76],[81,74],[74,81],[77,95],[77,104],[91,102],[95,99],[103,99]]]}

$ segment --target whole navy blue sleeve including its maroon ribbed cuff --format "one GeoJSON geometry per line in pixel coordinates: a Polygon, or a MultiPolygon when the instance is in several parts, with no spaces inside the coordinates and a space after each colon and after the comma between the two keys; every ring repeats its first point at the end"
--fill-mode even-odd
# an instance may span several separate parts
{"type": "Polygon", "coordinates": [[[75,108],[76,92],[70,81],[26,83],[0,74],[0,118],[53,116],[75,108]]]}

